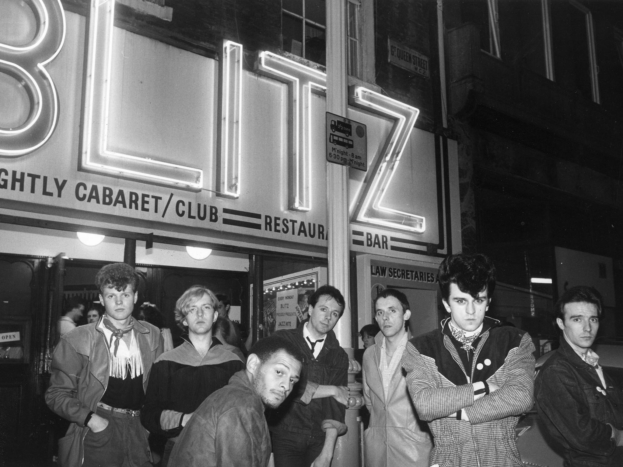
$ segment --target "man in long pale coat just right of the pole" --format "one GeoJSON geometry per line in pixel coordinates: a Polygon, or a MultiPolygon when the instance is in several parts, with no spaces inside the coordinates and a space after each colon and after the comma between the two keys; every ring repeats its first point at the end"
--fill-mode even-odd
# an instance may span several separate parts
{"type": "Polygon", "coordinates": [[[370,412],[364,433],[366,467],[428,467],[432,442],[420,428],[401,366],[409,301],[388,288],[374,300],[374,311],[381,333],[363,356],[363,398],[370,412]]]}

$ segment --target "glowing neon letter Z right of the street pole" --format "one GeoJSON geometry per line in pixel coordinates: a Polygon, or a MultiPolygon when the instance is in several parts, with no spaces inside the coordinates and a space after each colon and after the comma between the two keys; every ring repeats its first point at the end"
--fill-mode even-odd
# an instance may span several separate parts
{"type": "Polygon", "coordinates": [[[374,177],[361,195],[355,219],[366,224],[383,225],[421,234],[426,230],[424,217],[383,205],[383,199],[391,186],[392,177],[409,141],[419,110],[361,86],[354,87],[352,100],[353,104],[360,108],[394,120],[389,138],[378,156],[374,177]]]}

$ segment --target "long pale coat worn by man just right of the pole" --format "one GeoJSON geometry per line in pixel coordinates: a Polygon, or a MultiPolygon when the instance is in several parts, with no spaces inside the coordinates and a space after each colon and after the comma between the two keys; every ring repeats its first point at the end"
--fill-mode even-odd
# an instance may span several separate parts
{"type": "Polygon", "coordinates": [[[383,390],[381,345],[383,333],[376,334],[376,344],[363,354],[363,398],[370,412],[364,433],[367,467],[428,467],[432,441],[422,431],[413,407],[404,370],[396,367],[389,382],[388,398],[383,390]]]}

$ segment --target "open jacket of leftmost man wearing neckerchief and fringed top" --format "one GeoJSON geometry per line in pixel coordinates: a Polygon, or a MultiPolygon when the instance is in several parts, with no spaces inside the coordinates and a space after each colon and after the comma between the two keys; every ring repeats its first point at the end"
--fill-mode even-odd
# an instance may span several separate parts
{"type": "MultiPolygon", "coordinates": [[[[60,338],[52,357],[50,387],[45,403],[60,417],[72,422],[59,440],[59,465],[80,467],[84,460],[84,437],[89,412],[97,413],[97,403],[108,387],[109,350],[97,323],[85,324],[60,338]]],[[[151,365],[162,353],[160,330],[145,321],[134,321],[136,341],[143,359],[143,390],[147,390],[151,365]]]]}

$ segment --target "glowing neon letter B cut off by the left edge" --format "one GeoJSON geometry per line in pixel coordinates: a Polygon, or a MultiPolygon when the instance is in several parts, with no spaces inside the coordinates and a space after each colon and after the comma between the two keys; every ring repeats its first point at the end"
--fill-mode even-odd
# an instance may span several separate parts
{"type": "Polygon", "coordinates": [[[60,0],[29,2],[37,21],[30,44],[0,44],[0,72],[14,77],[29,95],[29,116],[18,128],[0,128],[0,156],[32,153],[52,136],[59,120],[59,96],[45,65],[59,54],[65,42],[65,11],[60,0]]]}

